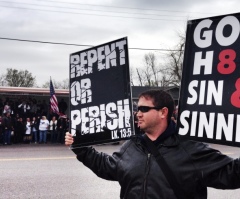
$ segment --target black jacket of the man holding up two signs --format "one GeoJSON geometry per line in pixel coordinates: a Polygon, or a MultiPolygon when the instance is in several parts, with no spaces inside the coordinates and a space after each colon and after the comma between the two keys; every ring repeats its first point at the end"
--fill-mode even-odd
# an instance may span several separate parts
{"type": "MultiPolygon", "coordinates": [[[[221,154],[206,144],[182,141],[169,125],[157,146],[185,192],[183,199],[207,198],[207,187],[240,187],[239,160],[221,154]],[[164,135],[164,136],[163,136],[164,135]],[[166,136],[168,135],[168,136],[166,136]]],[[[161,136],[160,136],[161,137],[161,136]]],[[[141,135],[126,141],[112,156],[92,147],[73,150],[77,158],[96,175],[118,181],[122,199],[175,199],[171,186],[155,158],[148,152],[141,135]]]]}

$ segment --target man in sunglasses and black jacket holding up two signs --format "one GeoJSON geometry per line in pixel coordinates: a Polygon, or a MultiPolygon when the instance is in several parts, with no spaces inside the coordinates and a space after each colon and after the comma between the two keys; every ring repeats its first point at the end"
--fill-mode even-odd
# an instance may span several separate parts
{"type": "MultiPolygon", "coordinates": [[[[138,126],[144,135],[133,136],[111,156],[92,147],[73,149],[73,152],[97,176],[118,181],[122,199],[206,199],[207,187],[239,188],[239,160],[201,142],[181,140],[171,120],[173,109],[174,101],[168,93],[146,91],[139,96],[137,111],[138,126]],[[160,168],[144,136],[157,147],[168,172],[160,168]],[[181,194],[176,194],[167,175],[174,176],[174,185],[181,194]]],[[[70,146],[73,142],[74,138],[67,133],[65,144],[70,146]]]]}

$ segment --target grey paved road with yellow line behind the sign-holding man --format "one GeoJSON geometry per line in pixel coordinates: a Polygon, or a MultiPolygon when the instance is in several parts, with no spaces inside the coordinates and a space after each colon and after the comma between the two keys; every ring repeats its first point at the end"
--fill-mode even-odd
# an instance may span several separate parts
{"type": "MultiPolygon", "coordinates": [[[[96,146],[111,154],[119,145],[96,146]]],[[[238,157],[239,148],[212,145],[238,157]]],[[[102,180],[63,145],[0,146],[1,199],[117,199],[117,182],[102,180]]],[[[209,199],[236,199],[240,190],[209,189],[209,199]]]]}

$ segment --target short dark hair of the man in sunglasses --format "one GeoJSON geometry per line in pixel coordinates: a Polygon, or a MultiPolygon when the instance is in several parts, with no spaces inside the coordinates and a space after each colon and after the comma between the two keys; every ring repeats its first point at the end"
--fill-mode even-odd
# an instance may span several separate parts
{"type": "Polygon", "coordinates": [[[168,108],[168,121],[171,120],[173,110],[174,110],[174,100],[172,96],[166,91],[159,89],[147,90],[141,93],[138,97],[144,97],[146,99],[151,99],[152,103],[156,107],[167,107],[168,108]]]}

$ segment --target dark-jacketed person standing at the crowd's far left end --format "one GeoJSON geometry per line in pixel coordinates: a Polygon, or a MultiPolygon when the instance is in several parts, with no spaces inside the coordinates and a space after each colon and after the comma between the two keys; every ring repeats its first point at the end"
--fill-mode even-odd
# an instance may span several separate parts
{"type": "Polygon", "coordinates": [[[4,114],[4,117],[2,119],[2,128],[3,128],[3,136],[4,136],[4,145],[10,145],[11,144],[11,132],[13,130],[12,121],[10,112],[6,112],[4,114]]]}

